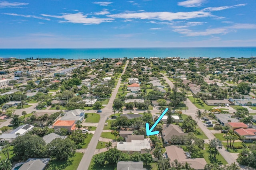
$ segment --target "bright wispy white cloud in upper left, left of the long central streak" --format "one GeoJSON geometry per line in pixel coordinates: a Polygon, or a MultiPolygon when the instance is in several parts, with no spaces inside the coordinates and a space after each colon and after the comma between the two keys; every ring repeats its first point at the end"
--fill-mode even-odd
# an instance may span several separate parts
{"type": "Polygon", "coordinates": [[[83,15],[81,12],[76,14],[62,13],[62,16],[53,16],[53,15],[47,15],[47,14],[42,14],[42,16],[66,20],[66,21],[63,21],[63,20],[60,21],[62,23],[69,22],[69,23],[83,23],[83,24],[100,24],[102,22],[112,22],[114,20],[112,18],[87,18],[87,16],[83,15]]]}

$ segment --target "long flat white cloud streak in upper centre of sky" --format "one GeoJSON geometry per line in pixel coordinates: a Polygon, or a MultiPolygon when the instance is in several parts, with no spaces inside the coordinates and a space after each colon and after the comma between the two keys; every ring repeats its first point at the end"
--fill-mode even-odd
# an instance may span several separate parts
{"type": "Polygon", "coordinates": [[[141,13],[121,13],[108,15],[110,18],[124,18],[124,19],[143,19],[143,20],[186,20],[192,18],[203,18],[211,16],[209,12],[194,11],[194,12],[141,12],[141,13]]]}

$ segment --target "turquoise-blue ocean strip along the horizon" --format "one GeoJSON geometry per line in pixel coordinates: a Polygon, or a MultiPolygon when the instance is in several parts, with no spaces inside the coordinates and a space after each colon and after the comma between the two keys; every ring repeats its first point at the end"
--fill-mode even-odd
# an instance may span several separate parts
{"type": "Polygon", "coordinates": [[[133,57],[208,57],[230,58],[256,56],[256,47],[191,47],[191,48],[94,48],[94,49],[0,49],[0,57],[102,59],[133,57]]]}

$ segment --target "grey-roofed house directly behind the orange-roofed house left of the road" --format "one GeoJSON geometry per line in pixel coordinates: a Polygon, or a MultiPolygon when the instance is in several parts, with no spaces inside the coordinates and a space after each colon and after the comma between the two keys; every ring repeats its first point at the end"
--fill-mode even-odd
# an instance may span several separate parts
{"type": "Polygon", "coordinates": [[[60,118],[61,121],[82,121],[83,119],[84,110],[82,109],[70,110],[67,113],[65,113],[63,117],[60,118]]]}

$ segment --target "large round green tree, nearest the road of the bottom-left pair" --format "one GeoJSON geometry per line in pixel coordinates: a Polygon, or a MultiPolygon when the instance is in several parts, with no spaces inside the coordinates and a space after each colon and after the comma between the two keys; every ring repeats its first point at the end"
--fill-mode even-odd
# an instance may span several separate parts
{"type": "Polygon", "coordinates": [[[56,138],[46,145],[48,156],[57,160],[68,160],[76,153],[76,144],[70,139],[56,138]]]}

